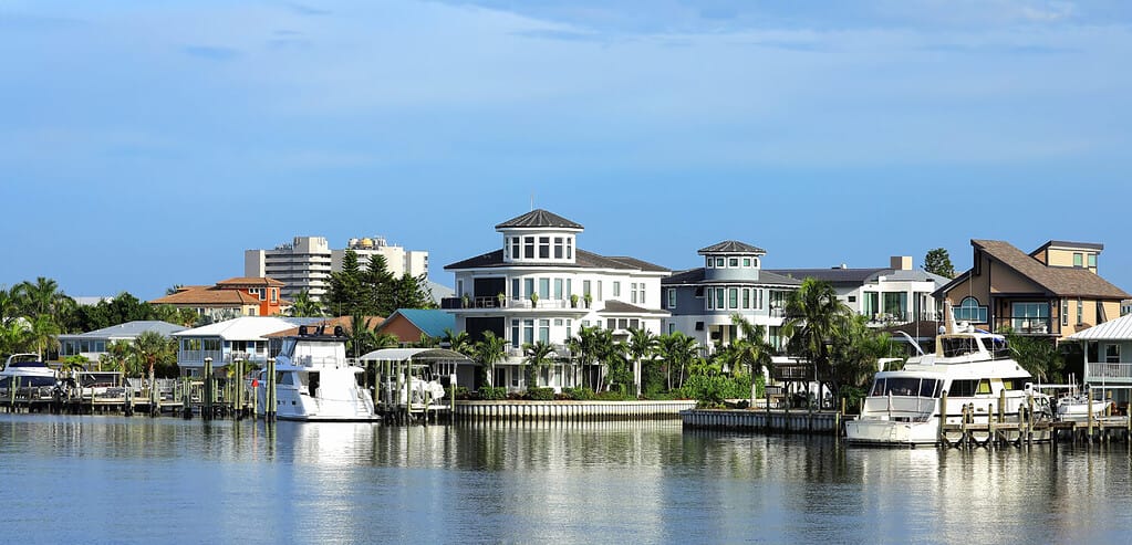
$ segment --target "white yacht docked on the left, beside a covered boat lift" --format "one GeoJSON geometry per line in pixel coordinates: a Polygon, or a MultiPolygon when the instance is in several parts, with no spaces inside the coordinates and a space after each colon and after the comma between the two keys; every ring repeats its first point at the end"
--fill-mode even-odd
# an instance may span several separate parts
{"type": "MultiPolygon", "coordinates": [[[[335,327],[299,328],[299,335],[283,340],[275,357],[275,416],[291,421],[376,421],[374,398],[358,383],[365,371],[346,361],[346,337],[335,327]]],[[[255,381],[256,407],[267,406],[267,370],[255,381]]]]}

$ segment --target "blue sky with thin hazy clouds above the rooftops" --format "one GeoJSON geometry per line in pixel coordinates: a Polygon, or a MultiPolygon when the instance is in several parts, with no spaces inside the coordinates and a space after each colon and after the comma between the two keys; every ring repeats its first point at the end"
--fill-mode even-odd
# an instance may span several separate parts
{"type": "Polygon", "coordinates": [[[1055,239],[1132,291],[1130,6],[0,0],[0,285],[148,299],[372,234],[451,285],[533,196],[674,269],[1055,239]]]}

